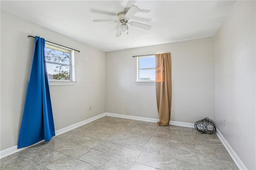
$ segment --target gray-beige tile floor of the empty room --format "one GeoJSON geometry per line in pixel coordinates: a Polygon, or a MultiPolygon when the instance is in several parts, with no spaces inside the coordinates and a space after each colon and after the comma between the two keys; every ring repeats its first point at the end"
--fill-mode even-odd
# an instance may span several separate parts
{"type": "Polygon", "coordinates": [[[102,117],[0,160],[1,170],[236,170],[216,134],[102,117]]]}

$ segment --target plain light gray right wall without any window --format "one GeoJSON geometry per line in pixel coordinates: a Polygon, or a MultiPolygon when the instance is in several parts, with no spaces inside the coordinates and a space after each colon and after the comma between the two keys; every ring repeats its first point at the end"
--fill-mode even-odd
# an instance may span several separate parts
{"type": "Polygon", "coordinates": [[[239,1],[215,36],[215,121],[248,169],[256,169],[255,63],[255,1],[239,1]]]}

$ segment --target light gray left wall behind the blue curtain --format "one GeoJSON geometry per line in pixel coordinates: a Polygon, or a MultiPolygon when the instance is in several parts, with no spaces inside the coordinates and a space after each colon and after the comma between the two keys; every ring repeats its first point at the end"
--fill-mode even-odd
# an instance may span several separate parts
{"type": "Polygon", "coordinates": [[[34,46],[28,35],[81,51],[75,52],[76,85],[50,86],[55,130],[105,112],[105,52],[1,11],[0,150],[18,143],[34,46]]]}

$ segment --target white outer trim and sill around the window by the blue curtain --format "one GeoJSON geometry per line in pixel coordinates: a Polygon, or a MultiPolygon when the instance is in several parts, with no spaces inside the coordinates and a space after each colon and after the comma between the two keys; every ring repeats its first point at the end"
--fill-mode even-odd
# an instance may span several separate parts
{"type": "Polygon", "coordinates": [[[50,43],[50,42],[45,42],[48,45],[52,45],[55,47],[59,47],[62,49],[66,49],[68,51],[70,51],[70,55],[71,55],[71,60],[70,60],[70,69],[71,69],[71,74],[70,74],[70,81],[60,81],[60,80],[48,80],[49,85],[50,86],[54,86],[54,85],[76,85],[76,81],[75,81],[75,51],[73,49],[67,48],[67,47],[63,47],[61,45],[57,45],[54,43],[50,43]]]}

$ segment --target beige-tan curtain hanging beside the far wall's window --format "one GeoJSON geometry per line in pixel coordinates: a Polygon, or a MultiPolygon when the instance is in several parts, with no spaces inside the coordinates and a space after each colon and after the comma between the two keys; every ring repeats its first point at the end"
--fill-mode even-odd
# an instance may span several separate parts
{"type": "Polygon", "coordinates": [[[171,54],[156,54],[156,102],[158,125],[168,126],[172,106],[171,54]]]}

